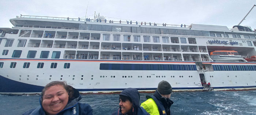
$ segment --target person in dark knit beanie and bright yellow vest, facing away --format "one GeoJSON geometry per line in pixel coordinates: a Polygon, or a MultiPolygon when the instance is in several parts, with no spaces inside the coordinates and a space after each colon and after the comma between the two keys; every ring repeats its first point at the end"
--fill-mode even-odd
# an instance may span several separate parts
{"type": "Polygon", "coordinates": [[[170,100],[172,86],[167,81],[161,81],[153,96],[146,96],[147,100],[141,104],[150,115],[170,115],[170,100]]]}

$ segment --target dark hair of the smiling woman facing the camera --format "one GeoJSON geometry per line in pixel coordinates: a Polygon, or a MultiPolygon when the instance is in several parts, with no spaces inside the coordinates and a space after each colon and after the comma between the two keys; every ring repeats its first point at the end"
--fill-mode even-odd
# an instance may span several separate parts
{"type": "Polygon", "coordinates": [[[41,96],[44,97],[44,94],[45,94],[45,91],[47,89],[49,89],[50,87],[54,86],[54,85],[62,85],[64,87],[64,89],[68,92],[68,99],[71,99],[73,94],[74,94],[74,91],[73,91],[73,87],[70,86],[70,85],[67,85],[66,81],[52,81],[50,82],[49,84],[45,85],[42,93],[41,93],[41,96]]]}

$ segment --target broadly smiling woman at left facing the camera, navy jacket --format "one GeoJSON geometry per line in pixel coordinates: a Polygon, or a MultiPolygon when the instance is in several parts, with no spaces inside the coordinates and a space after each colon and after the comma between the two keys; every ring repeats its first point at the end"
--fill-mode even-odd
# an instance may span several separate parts
{"type": "Polygon", "coordinates": [[[78,103],[82,97],[75,88],[64,81],[47,84],[40,96],[40,107],[23,115],[93,115],[88,104],[78,103]]]}

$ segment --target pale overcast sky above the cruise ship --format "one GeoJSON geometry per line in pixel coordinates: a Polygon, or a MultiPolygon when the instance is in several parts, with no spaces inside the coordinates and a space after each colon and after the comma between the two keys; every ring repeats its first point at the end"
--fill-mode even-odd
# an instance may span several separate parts
{"type": "MultiPolygon", "coordinates": [[[[9,19],[22,15],[93,18],[94,11],[107,20],[136,20],[167,24],[237,25],[256,0],[4,0],[0,27],[12,27],[9,19]],[[117,18],[117,19],[114,19],[117,18]]],[[[240,24],[256,28],[256,7],[240,24]]]]}

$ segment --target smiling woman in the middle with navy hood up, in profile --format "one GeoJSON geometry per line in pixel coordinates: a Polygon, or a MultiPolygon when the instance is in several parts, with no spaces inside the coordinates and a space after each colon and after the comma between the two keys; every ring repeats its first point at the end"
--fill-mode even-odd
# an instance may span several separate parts
{"type": "Polygon", "coordinates": [[[140,93],[137,89],[124,89],[119,95],[119,109],[112,115],[150,115],[139,106],[140,93]]]}

